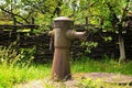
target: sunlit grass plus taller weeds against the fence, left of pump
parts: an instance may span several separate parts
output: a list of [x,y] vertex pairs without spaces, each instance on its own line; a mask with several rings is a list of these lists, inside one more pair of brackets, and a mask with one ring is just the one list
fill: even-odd
[[[10,45],[0,48],[0,88],[12,88],[14,84],[31,79],[44,78],[50,74],[51,65],[34,65],[33,57],[26,58],[23,52],[18,52]],[[29,57],[29,56],[28,56]]]

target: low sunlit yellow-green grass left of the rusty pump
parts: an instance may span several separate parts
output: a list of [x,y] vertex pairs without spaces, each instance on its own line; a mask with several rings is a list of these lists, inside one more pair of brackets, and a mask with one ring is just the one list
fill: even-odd
[[14,84],[25,82],[32,79],[41,79],[50,76],[50,65],[31,65],[10,67],[0,65],[0,88],[10,88]]

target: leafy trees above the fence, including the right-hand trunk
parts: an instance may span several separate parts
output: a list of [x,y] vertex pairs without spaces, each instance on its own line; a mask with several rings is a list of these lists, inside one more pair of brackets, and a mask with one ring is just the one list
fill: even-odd
[[[75,24],[92,24],[92,30],[112,31],[119,35],[120,62],[125,59],[123,33],[125,21],[132,12],[131,0],[1,0],[1,18],[7,16],[13,24],[35,23],[40,33],[50,30],[54,18],[69,16]],[[87,29],[88,30],[88,29]]]

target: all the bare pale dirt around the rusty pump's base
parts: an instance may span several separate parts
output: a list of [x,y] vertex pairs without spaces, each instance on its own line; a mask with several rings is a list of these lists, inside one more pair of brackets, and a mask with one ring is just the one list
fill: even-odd
[[[80,88],[78,82],[81,79],[90,78],[91,80],[101,79],[103,82],[108,84],[132,84],[132,76],[120,75],[120,74],[109,74],[109,73],[84,73],[74,74],[73,79],[67,81],[52,81],[48,78],[28,81],[25,84],[20,84],[13,88]],[[85,87],[81,87],[85,88]],[[122,88],[122,87],[121,87]],[[131,86],[127,88],[132,88]]]

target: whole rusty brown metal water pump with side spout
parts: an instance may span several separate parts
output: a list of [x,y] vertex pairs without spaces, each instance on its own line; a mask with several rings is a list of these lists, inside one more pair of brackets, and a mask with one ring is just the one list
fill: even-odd
[[66,16],[56,18],[53,22],[54,30],[50,35],[54,38],[54,57],[52,66],[52,79],[70,79],[70,41],[85,40],[85,32],[72,30],[74,21]]

